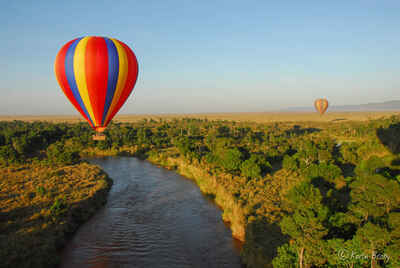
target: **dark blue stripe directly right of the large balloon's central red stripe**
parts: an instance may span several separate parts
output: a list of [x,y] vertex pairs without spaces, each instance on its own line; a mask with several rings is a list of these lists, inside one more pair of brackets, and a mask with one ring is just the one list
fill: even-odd
[[112,100],[114,98],[115,88],[117,87],[118,81],[118,73],[119,73],[119,59],[118,59],[118,51],[114,45],[114,42],[104,37],[104,40],[107,44],[108,50],[108,80],[107,80],[107,94],[106,94],[106,102],[104,104],[103,110],[103,119],[101,120],[101,124],[104,124],[106,120],[106,116],[108,110],[110,109]]

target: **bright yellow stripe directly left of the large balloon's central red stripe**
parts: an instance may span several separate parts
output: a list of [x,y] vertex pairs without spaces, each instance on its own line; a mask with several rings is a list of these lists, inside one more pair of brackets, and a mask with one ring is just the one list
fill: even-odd
[[93,113],[92,103],[90,102],[89,92],[87,89],[86,83],[86,65],[85,65],[85,54],[86,54],[86,45],[89,41],[90,37],[84,37],[79,41],[78,45],[75,48],[74,54],[74,75],[76,85],[79,90],[79,94],[81,95],[83,104],[86,107],[86,110],[89,113],[90,119],[92,119],[94,125],[99,126],[99,122],[96,121],[96,118]]

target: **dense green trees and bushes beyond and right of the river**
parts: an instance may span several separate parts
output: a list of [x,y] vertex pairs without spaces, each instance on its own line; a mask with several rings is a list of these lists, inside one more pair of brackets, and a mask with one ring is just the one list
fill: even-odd
[[214,195],[248,267],[399,267],[400,118],[266,123],[201,119],[111,125],[0,123],[0,162],[133,154]]

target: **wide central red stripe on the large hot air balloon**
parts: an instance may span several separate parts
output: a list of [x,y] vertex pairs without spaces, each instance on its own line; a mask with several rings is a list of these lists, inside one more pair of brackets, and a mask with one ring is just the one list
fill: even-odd
[[106,41],[102,37],[91,37],[88,40],[85,69],[90,103],[96,125],[100,126],[106,102],[108,78],[108,50]]

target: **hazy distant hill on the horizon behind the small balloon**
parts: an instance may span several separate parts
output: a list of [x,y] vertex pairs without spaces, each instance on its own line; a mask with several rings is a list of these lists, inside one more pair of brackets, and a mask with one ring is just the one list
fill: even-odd
[[[291,107],[285,109],[286,111],[314,111],[314,106],[309,107]],[[400,110],[400,100],[385,101],[385,102],[373,102],[367,104],[358,105],[333,105],[330,106],[329,111],[389,111],[389,110]]]

